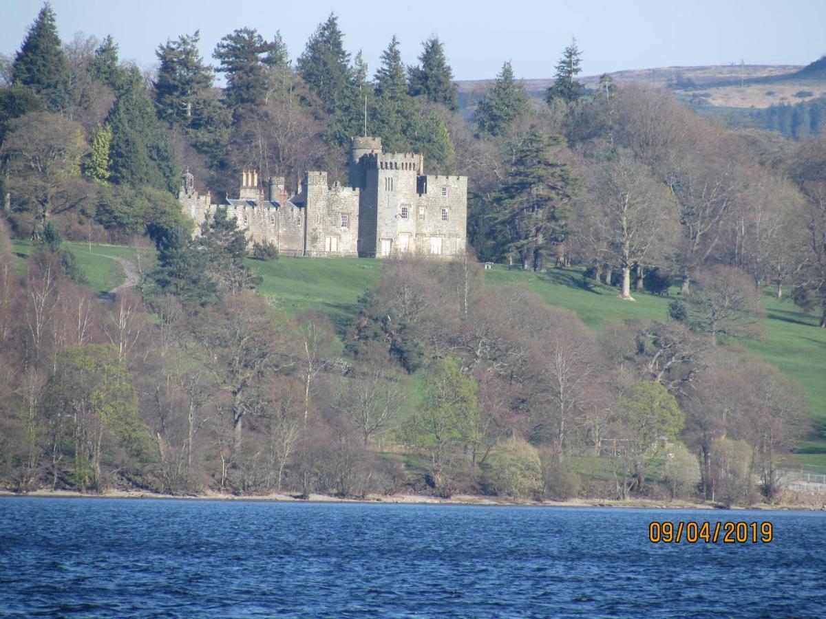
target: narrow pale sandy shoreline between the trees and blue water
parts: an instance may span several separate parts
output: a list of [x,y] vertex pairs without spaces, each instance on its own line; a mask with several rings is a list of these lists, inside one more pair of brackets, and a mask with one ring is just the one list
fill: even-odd
[[770,505],[758,503],[750,506],[732,506],[724,508],[712,503],[691,503],[688,501],[663,501],[657,499],[567,499],[565,501],[509,501],[487,496],[471,494],[457,494],[450,499],[421,496],[418,494],[368,495],[364,499],[342,499],[327,494],[311,494],[307,499],[297,498],[291,494],[272,493],[262,495],[237,496],[235,494],[204,493],[204,494],[159,494],[142,492],[139,490],[107,490],[102,494],[88,494],[72,490],[32,490],[26,493],[16,493],[0,489],[0,498],[33,497],[37,499],[150,499],[150,500],[180,500],[180,501],[235,501],[239,503],[353,503],[373,505],[467,505],[482,507],[525,507],[525,508],[636,508],[636,509],[697,509],[697,510],[756,510],[756,511],[807,511],[819,512],[826,510],[824,505],[806,506],[798,504]]

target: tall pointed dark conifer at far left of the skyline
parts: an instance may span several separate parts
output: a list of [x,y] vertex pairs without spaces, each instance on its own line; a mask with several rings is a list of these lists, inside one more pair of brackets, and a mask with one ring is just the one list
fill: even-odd
[[43,5],[12,65],[12,83],[31,89],[50,111],[69,106],[69,61],[61,48],[55,12]]

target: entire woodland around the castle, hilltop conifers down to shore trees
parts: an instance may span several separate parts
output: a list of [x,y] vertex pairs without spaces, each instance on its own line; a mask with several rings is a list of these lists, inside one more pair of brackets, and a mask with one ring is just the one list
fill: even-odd
[[[805,431],[799,391],[726,343],[759,337],[763,286],[826,324],[826,139],[793,144],[709,125],[664,91],[593,97],[576,42],[545,102],[503,64],[471,120],[454,113],[438,39],[415,67],[395,37],[368,81],[335,16],[293,63],[281,38],[159,45],[159,70],[115,42],[56,35],[46,5],[3,65],[0,478],[16,489],[506,496],[634,494],[750,500]],[[215,71],[227,87],[213,86]],[[174,196],[188,166],[235,191],[254,166],[344,174],[351,135],[423,151],[470,177],[477,256],[581,269],[681,295],[665,323],[595,338],[521,290],[482,286],[475,260],[388,261],[346,333],[254,293],[247,241],[218,210],[192,237]],[[5,223],[4,223],[5,225]],[[140,294],[93,300],[61,237],[145,234]],[[5,241],[7,235],[0,235]],[[665,319],[666,317],[663,317]],[[342,347],[343,345],[343,347]],[[699,485],[698,485],[699,484]]]

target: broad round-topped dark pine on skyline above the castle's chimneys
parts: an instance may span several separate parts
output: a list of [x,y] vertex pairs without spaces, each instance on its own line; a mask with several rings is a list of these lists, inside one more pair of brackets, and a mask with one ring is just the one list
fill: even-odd
[[221,63],[216,69],[225,73],[227,105],[259,105],[267,95],[267,69],[275,44],[263,40],[258,31],[241,28],[226,35],[216,45],[212,57]]

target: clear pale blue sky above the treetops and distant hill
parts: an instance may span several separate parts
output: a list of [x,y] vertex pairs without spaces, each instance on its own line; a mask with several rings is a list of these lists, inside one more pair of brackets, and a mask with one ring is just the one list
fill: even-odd
[[[41,0],[0,0],[0,54],[20,49]],[[335,12],[345,48],[363,51],[373,74],[392,35],[415,64],[421,43],[438,35],[456,79],[496,76],[506,60],[518,78],[551,78],[572,37],[582,74],[706,64],[808,64],[826,54],[826,0],[373,0],[371,2],[170,2],[51,0],[59,35],[111,34],[122,60],[156,64],[154,50],[201,31],[204,59],[236,28],[272,40],[281,31],[297,58],[316,26]]]

